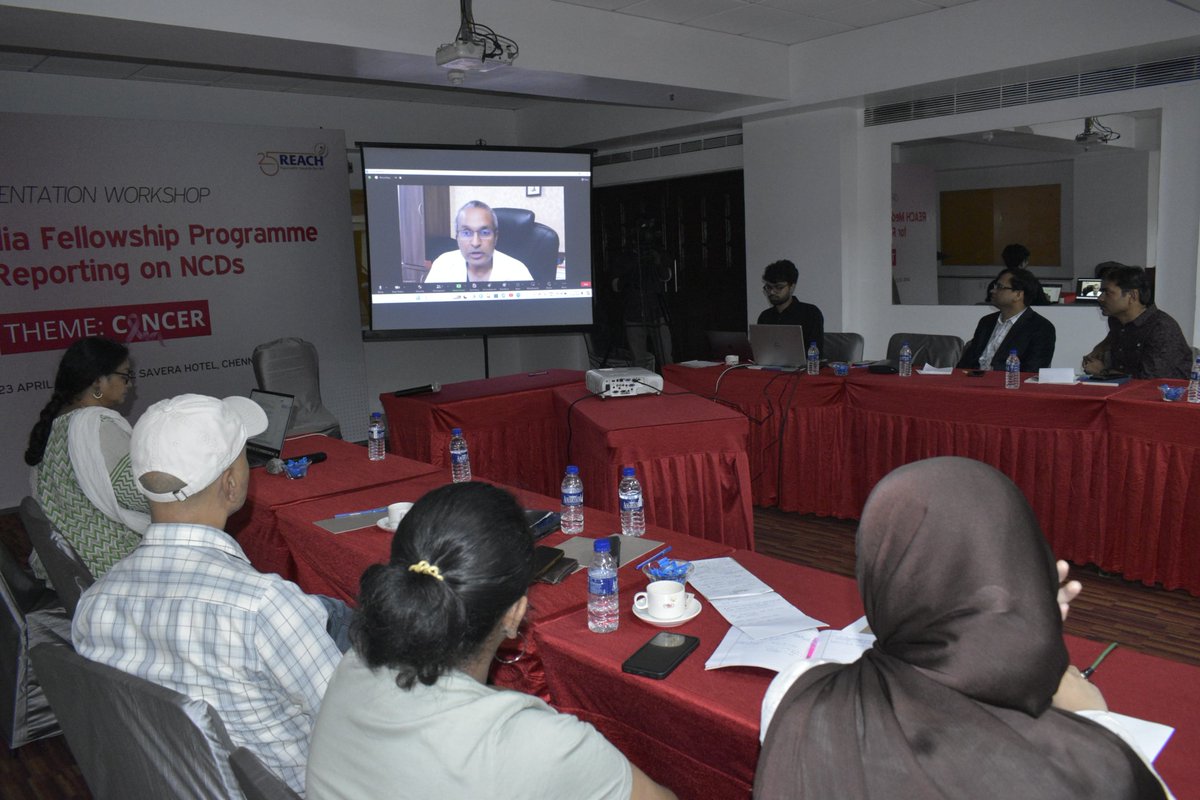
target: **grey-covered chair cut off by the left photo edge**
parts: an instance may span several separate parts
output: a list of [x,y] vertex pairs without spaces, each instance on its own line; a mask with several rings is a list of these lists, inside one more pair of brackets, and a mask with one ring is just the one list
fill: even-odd
[[0,545],[0,735],[16,750],[55,736],[59,722],[29,661],[42,642],[71,640],[71,619],[54,590]]

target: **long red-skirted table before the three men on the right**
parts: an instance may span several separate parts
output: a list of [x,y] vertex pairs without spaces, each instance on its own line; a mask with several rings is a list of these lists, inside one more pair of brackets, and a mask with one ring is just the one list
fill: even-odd
[[1200,595],[1200,405],[1158,385],[1003,389],[971,378],[846,378],[668,365],[667,379],[739,409],[758,505],[858,518],[875,483],[902,464],[965,456],[1025,493],[1060,558]]

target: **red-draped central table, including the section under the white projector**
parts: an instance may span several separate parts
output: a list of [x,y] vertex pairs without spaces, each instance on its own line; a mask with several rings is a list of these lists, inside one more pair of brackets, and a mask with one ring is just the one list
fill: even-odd
[[462,428],[474,475],[554,497],[576,464],[587,504],[612,512],[620,468],[631,465],[647,523],[754,548],[746,419],[690,391],[604,399],[582,372],[551,369],[379,401],[401,456],[449,473],[451,431]]

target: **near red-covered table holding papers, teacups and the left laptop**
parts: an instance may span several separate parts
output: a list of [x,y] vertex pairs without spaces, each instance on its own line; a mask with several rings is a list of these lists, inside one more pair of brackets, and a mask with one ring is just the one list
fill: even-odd
[[[301,446],[289,443],[286,455],[314,449],[311,441]],[[449,469],[430,470],[428,464],[396,456],[370,463],[364,449],[334,440],[320,449],[329,452],[330,461],[314,465],[305,480],[287,481],[256,470],[251,499],[257,511],[240,518],[241,524],[230,533],[247,554],[266,553],[283,565],[276,571],[306,591],[353,602],[362,570],[388,559],[392,535],[374,527],[377,515],[364,515],[362,528],[343,534],[331,534],[316,523],[338,513],[415,500],[446,482]],[[347,485],[350,473],[367,480],[380,477],[383,473],[374,471],[380,464],[398,477],[362,488]],[[547,495],[508,488],[527,507],[557,504]],[[311,495],[304,497],[306,492]],[[612,512],[587,510],[586,536],[607,535],[616,528]],[[850,578],[660,527],[652,527],[647,535],[672,545],[673,555],[689,560],[730,555],[797,607],[834,627],[862,615]],[[563,539],[556,533],[544,541],[553,545]],[[264,542],[270,547],[263,547]],[[260,566],[257,560],[256,566]],[[604,636],[587,630],[583,573],[558,585],[530,587],[527,655],[516,664],[498,667],[492,680],[540,694],[560,710],[592,722],[680,798],[744,800],[750,795],[758,757],[758,708],[773,674],[752,668],[704,670],[704,661],[730,626],[703,600],[702,613],[674,628],[701,639],[700,648],[674,673],[665,680],[623,673],[620,663],[658,631],[630,612],[632,594],[644,584],[646,578],[631,566],[622,569],[622,624]],[[1067,644],[1076,664],[1088,663],[1103,648],[1103,643],[1076,637],[1067,637]],[[1094,681],[1112,710],[1176,728],[1156,766],[1177,796],[1200,796],[1200,759],[1195,758],[1200,752],[1200,669],[1118,648]]]

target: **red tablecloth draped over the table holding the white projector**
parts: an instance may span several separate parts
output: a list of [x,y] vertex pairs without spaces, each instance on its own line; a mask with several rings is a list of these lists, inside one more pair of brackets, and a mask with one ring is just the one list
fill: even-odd
[[587,505],[617,511],[620,468],[632,465],[647,523],[754,547],[745,416],[670,384],[637,397],[602,399],[583,386],[553,395]]

